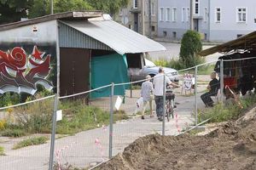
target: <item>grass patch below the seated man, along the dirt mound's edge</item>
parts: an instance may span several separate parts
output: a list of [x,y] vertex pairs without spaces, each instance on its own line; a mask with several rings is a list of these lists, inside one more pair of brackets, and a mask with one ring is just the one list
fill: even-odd
[[239,105],[228,103],[226,105],[214,105],[214,107],[198,111],[198,121],[203,122],[208,118],[212,118],[210,122],[226,122],[230,120],[236,120],[241,116],[242,113],[247,111],[250,107],[255,105],[256,95],[246,96],[246,98],[241,99],[242,108]]

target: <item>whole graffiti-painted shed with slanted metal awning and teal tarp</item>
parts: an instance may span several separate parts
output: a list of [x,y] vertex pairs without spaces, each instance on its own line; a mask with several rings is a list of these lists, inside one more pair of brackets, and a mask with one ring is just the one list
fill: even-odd
[[[100,11],[51,14],[3,25],[0,94],[34,94],[40,84],[64,96],[127,82],[130,64],[142,67],[143,53],[161,50],[166,48]],[[124,94],[124,88],[115,94]]]

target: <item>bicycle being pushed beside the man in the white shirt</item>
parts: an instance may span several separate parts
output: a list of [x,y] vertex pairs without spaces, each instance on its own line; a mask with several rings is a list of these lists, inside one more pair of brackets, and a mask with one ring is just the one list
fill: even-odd
[[172,89],[167,88],[166,89],[166,117],[168,122],[170,122],[170,116],[174,118],[174,115],[173,115],[174,98],[175,98],[175,94],[172,93]]

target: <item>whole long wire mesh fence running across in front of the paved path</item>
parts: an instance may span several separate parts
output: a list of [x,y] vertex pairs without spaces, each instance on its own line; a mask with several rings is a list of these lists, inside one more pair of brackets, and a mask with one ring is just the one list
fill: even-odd
[[[172,105],[173,117],[170,116],[169,121],[166,116],[164,120],[158,120],[155,111],[156,97],[153,94],[150,96],[152,112],[149,102],[138,107],[141,84],[145,81],[154,82],[152,78],[109,84],[87,92],[59,97],[56,108],[58,113],[54,115],[57,119],[55,139],[52,143],[50,133],[55,112],[55,95],[47,98],[37,96],[26,104],[0,108],[0,146],[4,147],[6,153],[6,156],[0,156],[0,168],[47,169],[50,144],[55,144],[52,145],[55,169],[91,167],[115,156],[135,139],[145,135],[183,133],[191,125],[206,120],[201,116],[206,107],[229,99],[236,102],[239,99],[237,96],[251,93],[255,88],[255,66],[254,58],[229,59],[177,71],[179,81],[176,83],[180,87],[172,88],[175,99]],[[212,75],[213,71],[216,75]],[[166,77],[169,78],[167,74]],[[166,85],[162,85],[163,96],[166,96]],[[124,93],[118,93],[119,89],[125,89]],[[167,97],[163,99],[168,100]],[[166,103],[163,108],[166,113]],[[9,139],[8,136],[11,135],[23,137]],[[39,137],[42,138],[40,142],[45,144],[13,150],[24,139],[28,139],[24,144],[26,146],[32,139]]]

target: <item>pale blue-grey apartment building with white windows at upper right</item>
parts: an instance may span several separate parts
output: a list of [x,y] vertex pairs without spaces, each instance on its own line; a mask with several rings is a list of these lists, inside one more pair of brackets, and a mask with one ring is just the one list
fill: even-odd
[[[193,28],[202,39],[226,42],[256,28],[254,0],[193,0]],[[190,0],[159,0],[158,36],[181,39],[190,28]]]

